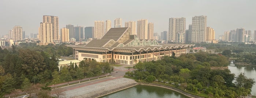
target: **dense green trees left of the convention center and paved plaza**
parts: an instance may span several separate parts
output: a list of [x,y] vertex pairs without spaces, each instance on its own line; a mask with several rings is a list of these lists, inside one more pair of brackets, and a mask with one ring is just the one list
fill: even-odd
[[[80,62],[79,67],[71,63],[70,67],[63,66],[59,71],[57,56],[72,54],[72,49],[65,45],[36,46],[25,43],[10,49],[0,48],[0,98],[17,92],[15,89],[47,98],[45,93],[51,90],[48,84],[80,80],[112,70],[108,63],[85,60]],[[38,91],[38,88],[41,90]]]

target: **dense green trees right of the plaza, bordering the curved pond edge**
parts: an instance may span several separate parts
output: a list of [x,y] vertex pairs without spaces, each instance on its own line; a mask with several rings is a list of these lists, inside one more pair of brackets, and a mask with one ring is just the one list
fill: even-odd
[[[231,98],[251,93],[255,80],[244,73],[237,77],[229,69],[211,69],[211,66],[227,66],[228,59],[218,54],[198,52],[182,54],[179,57],[165,56],[162,60],[138,63],[136,70],[126,72],[139,80],[159,81],[174,84],[193,93],[206,93],[210,97],[228,96]],[[233,83],[233,80],[236,82]]]

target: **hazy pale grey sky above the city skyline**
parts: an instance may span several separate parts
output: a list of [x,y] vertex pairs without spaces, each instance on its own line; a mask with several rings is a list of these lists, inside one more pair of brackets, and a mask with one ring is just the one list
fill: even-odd
[[168,31],[169,18],[186,18],[186,29],[193,16],[207,16],[207,27],[215,39],[224,31],[244,27],[256,30],[256,0],[0,0],[0,35],[22,26],[26,35],[38,33],[43,15],[59,17],[59,29],[66,24],[94,26],[95,20],[122,18],[148,19],[154,32]]

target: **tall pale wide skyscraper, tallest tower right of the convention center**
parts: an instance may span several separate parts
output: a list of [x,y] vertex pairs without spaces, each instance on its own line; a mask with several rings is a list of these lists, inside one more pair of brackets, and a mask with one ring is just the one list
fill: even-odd
[[191,42],[204,42],[207,16],[194,16],[192,18]]

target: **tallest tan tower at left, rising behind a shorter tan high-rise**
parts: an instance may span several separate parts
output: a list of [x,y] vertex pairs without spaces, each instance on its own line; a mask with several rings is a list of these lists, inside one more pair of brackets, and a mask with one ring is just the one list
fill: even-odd
[[43,16],[42,23],[52,23],[52,38],[59,40],[59,18],[57,16]]

